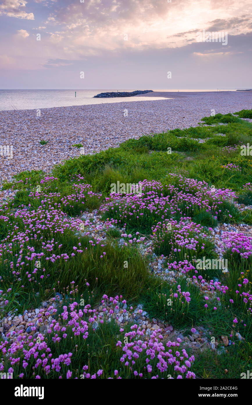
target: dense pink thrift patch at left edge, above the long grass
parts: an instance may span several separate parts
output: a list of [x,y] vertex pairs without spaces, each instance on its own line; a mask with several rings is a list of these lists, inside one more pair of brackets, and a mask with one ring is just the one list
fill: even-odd
[[[1,276],[8,273],[14,283],[39,283],[50,277],[45,264],[42,265],[44,260],[52,263],[57,260],[64,262],[69,257],[82,254],[88,249],[88,245],[105,246],[101,243],[101,238],[97,237],[90,238],[88,245],[78,242],[77,246],[73,246],[71,255],[62,251],[59,238],[66,231],[79,235],[83,222],[78,218],[69,218],[60,208],[50,205],[41,205],[33,210],[20,207],[15,213],[5,209],[5,215],[0,215],[1,219],[9,224],[8,234],[0,243],[0,258],[5,264],[5,272],[3,271]],[[90,232],[82,233],[86,236],[89,234]]]

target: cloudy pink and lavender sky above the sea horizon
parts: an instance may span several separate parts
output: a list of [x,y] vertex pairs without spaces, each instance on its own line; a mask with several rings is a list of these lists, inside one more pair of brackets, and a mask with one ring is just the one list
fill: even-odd
[[250,0],[0,0],[1,89],[242,89],[251,67]]

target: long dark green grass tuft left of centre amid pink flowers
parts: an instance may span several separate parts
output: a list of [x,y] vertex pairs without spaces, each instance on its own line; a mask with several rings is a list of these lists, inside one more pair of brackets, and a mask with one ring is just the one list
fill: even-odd
[[[93,288],[97,286],[100,292],[106,294],[124,294],[124,297],[137,296],[142,289],[145,289],[149,280],[147,264],[138,250],[134,247],[122,247],[119,245],[112,245],[107,243],[104,247],[95,245],[94,247],[88,242],[89,238],[79,238],[74,236],[72,232],[64,232],[62,237],[55,238],[58,245],[61,245],[61,249],[55,247],[52,254],[60,254],[61,252],[67,253],[69,259],[58,259],[55,262],[50,260],[46,261],[45,256],[40,258],[41,269],[46,267],[49,277],[40,279],[40,271],[33,275],[33,282],[30,283],[25,276],[25,272],[32,273],[35,260],[30,261],[25,258],[25,252],[22,257],[23,262],[27,264],[24,271],[20,271],[19,277],[22,278],[22,282],[15,280],[15,290],[19,290],[21,284],[23,285],[23,294],[28,296],[29,292],[40,292],[40,298],[42,301],[46,299],[44,291],[53,288],[63,290],[65,286],[70,285],[71,281],[78,283],[81,291],[84,288],[86,281]],[[83,254],[76,254],[71,257],[73,252],[72,246],[78,246],[81,243],[81,249]],[[34,245],[34,244],[33,244]],[[35,244],[36,251],[41,252],[42,248],[39,243]],[[86,249],[87,248],[87,249]],[[13,252],[16,252],[14,247]],[[103,253],[105,252],[105,254]],[[5,260],[6,259],[6,260]],[[12,271],[8,266],[8,262],[11,261],[8,254],[2,256],[0,262],[1,272],[1,285],[3,288],[8,288],[13,283]],[[14,258],[13,263],[16,265],[17,258]],[[127,268],[124,265],[127,263]],[[96,281],[96,278],[98,279]],[[27,299],[27,298],[26,298]],[[34,294],[29,296],[29,302],[26,304],[31,305],[34,303]],[[20,304],[21,305],[21,304]]]

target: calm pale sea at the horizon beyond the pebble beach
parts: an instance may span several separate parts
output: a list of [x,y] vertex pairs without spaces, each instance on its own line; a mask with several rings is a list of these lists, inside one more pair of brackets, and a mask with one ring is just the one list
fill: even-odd
[[[107,102],[122,102],[122,101],[144,101],[144,100],[160,100],[158,97],[118,97],[118,98],[93,98],[96,94],[102,92],[132,92],[128,89],[101,89],[101,90],[0,90],[0,111],[4,110],[32,110],[50,107],[67,107],[71,105],[83,104],[101,104]],[[138,89],[141,90],[141,89]],[[154,90],[154,89],[153,89]],[[178,90],[156,90],[162,92],[174,92]],[[215,90],[192,90],[181,89],[180,92],[195,92],[195,91],[216,91]]]

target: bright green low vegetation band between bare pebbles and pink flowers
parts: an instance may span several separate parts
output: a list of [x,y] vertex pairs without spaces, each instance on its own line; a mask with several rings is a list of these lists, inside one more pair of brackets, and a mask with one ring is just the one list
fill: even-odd
[[[104,195],[109,195],[111,183],[118,180],[123,183],[137,183],[144,179],[165,182],[167,174],[174,172],[187,173],[187,177],[205,180],[216,188],[232,188],[240,192],[242,186],[252,177],[251,156],[241,156],[239,153],[239,145],[251,143],[252,124],[231,115],[236,120],[234,121],[228,115],[231,122],[218,125],[225,121],[225,115],[218,117],[219,114],[208,117],[210,122],[214,120],[214,126],[145,135],[139,139],[129,139],[118,148],[70,158],[55,166],[52,174],[59,179],[60,187],[73,175],[81,175],[84,181],[92,185],[94,192],[102,192]],[[225,136],[220,136],[220,133]],[[199,144],[194,138],[210,139]],[[236,151],[223,150],[223,147],[233,145],[238,145]],[[169,147],[172,150],[170,154],[167,153]],[[240,166],[242,171],[230,171],[221,167],[228,163]],[[42,173],[23,172],[16,180],[25,182],[28,177],[31,177],[29,183],[35,186]],[[16,183],[15,187],[22,188],[23,185]],[[4,184],[4,188],[10,188],[10,183]]]

